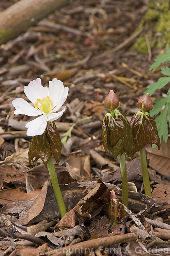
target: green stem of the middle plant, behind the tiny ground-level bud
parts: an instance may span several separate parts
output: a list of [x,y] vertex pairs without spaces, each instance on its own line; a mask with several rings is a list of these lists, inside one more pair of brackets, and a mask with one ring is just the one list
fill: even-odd
[[[122,203],[129,209],[128,202],[128,177],[126,172],[126,164],[125,164],[125,155],[119,155],[120,159],[120,169],[121,169],[121,177],[122,177]],[[123,216],[126,216],[127,213],[123,211]]]

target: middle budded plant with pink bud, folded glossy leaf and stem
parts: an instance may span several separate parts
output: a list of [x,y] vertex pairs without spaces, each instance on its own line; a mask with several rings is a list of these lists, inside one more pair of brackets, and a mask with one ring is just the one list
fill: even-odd
[[[132,130],[128,119],[118,110],[120,103],[113,90],[104,100],[104,105],[111,113],[103,118],[102,141],[105,152],[112,152],[114,159],[119,155],[122,178],[122,202],[128,208],[128,178],[125,165],[125,154],[129,156],[132,150]],[[123,212],[125,216],[126,213]]]

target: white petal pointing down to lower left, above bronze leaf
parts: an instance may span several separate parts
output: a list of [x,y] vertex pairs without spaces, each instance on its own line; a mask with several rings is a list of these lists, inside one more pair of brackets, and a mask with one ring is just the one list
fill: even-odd
[[47,126],[47,115],[43,114],[26,124],[26,127],[28,128],[27,135],[28,136],[41,135],[45,131],[46,126]]

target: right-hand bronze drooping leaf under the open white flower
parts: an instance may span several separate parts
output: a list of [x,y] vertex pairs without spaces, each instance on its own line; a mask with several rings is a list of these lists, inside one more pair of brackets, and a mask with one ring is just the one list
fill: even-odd
[[62,142],[54,122],[47,122],[46,132],[49,139],[51,151],[58,165],[61,158]]

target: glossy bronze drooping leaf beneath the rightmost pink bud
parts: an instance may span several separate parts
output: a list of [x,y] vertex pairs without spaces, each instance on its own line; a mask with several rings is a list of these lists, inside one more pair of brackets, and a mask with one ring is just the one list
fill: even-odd
[[131,128],[133,135],[133,146],[131,157],[140,151],[145,145],[156,144],[160,148],[160,139],[156,128],[155,119],[149,113],[136,112],[131,119]]

